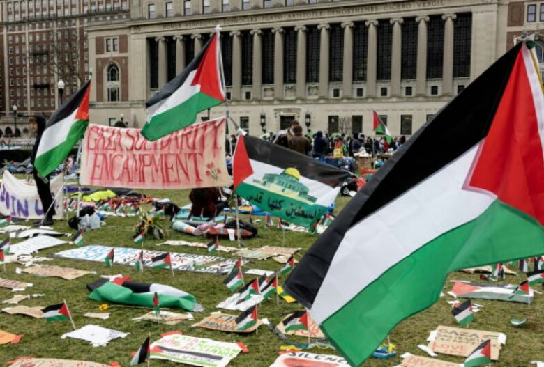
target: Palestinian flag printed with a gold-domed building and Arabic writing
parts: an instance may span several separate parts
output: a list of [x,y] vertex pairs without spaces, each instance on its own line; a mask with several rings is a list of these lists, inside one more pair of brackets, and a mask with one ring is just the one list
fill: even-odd
[[254,136],[234,151],[234,188],[266,212],[305,227],[322,217],[349,172]]

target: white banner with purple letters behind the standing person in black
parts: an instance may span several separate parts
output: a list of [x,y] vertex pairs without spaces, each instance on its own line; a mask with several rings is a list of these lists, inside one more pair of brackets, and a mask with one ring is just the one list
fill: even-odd
[[[60,191],[54,203],[56,211],[54,219],[62,219],[63,217],[64,196],[61,192],[63,180],[62,174],[51,180],[51,195],[54,197]],[[38,196],[36,185],[29,184],[26,180],[18,180],[9,171],[4,171],[0,187],[0,213],[14,218],[42,219],[43,212],[44,208],[42,208],[42,201]]]

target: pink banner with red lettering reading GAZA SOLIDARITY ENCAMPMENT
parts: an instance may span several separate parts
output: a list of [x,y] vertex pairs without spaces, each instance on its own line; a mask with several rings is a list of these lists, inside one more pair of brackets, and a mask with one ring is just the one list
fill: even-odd
[[189,189],[230,185],[225,118],[190,125],[157,141],[139,129],[89,125],[80,181],[133,189]]

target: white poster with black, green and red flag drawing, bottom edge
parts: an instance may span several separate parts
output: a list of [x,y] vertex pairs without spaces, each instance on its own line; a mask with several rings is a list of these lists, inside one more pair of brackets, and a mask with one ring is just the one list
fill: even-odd
[[174,334],[151,344],[151,359],[166,359],[192,366],[225,367],[241,350],[236,343]]

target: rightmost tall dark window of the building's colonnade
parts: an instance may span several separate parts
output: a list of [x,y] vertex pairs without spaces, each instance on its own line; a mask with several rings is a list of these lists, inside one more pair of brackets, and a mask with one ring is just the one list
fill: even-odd
[[453,77],[470,77],[472,14],[458,14],[453,24]]

